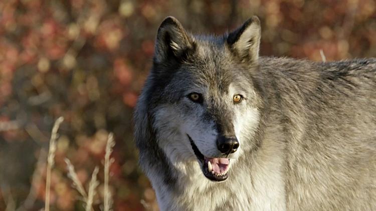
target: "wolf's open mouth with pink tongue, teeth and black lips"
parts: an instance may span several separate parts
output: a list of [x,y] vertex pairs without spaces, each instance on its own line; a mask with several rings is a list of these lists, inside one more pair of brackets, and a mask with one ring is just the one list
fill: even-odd
[[226,180],[229,177],[228,171],[230,169],[230,159],[223,157],[206,157],[201,153],[191,136],[188,135],[188,138],[190,139],[193,151],[202,165],[201,169],[203,170],[204,175],[213,181]]

